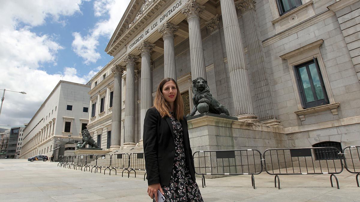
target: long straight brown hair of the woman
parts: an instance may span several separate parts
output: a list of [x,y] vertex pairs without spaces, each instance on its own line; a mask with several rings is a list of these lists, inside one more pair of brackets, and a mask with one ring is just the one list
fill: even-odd
[[181,98],[179,87],[177,86],[176,81],[172,78],[162,79],[161,82],[159,83],[154,100],[154,107],[159,111],[162,118],[166,115],[170,117],[170,113],[169,113],[170,105],[166,102],[164,96],[162,95],[162,87],[168,81],[173,81],[175,83],[177,90],[176,98],[174,101],[173,114],[177,120],[182,120],[184,116],[184,102],[183,99]]

